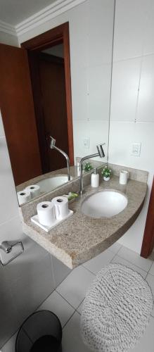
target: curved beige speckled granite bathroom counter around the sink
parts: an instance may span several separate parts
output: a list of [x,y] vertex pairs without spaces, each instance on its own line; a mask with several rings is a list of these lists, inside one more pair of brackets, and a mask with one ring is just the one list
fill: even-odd
[[[97,189],[92,189],[90,185],[84,189],[85,194],[69,204],[74,215],[48,233],[31,222],[30,212],[23,218],[25,234],[71,269],[94,258],[122,237],[134,223],[143,207],[147,184],[146,182],[129,180],[126,186],[122,186],[119,184],[119,177],[113,176],[110,181],[103,181]],[[84,199],[102,189],[113,189],[126,194],[127,207],[112,218],[95,219],[84,215],[81,212]],[[57,195],[62,194],[64,194],[63,190],[62,193],[59,191]],[[34,215],[36,203],[34,206],[31,216]]]

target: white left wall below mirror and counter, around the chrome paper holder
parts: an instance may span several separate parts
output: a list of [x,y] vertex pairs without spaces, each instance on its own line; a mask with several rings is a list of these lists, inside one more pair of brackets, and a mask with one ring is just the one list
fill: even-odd
[[[70,269],[22,232],[18,201],[0,115],[0,243],[22,241],[24,253],[0,265],[0,348],[23,320],[51,294]],[[0,250],[0,258],[3,258]],[[7,259],[11,254],[7,254]]]

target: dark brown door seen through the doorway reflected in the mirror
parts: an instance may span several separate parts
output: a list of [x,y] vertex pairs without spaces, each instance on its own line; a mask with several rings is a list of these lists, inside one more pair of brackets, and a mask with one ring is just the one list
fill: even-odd
[[58,148],[67,154],[69,153],[63,58],[40,54],[39,75],[46,134],[44,137],[46,138],[49,163],[47,171],[58,170],[66,167],[66,161],[60,153],[50,149],[49,136],[56,139]]

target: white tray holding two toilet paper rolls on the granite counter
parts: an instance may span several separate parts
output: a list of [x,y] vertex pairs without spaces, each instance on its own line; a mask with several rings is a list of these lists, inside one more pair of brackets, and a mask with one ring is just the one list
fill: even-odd
[[73,211],[68,208],[68,198],[58,196],[52,201],[38,203],[37,215],[32,216],[31,221],[44,231],[49,232],[72,214]]

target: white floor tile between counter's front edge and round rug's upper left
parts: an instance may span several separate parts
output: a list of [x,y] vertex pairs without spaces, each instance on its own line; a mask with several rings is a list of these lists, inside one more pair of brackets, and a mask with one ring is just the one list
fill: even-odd
[[92,258],[91,260],[88,260],[86,263],[83,264],[83,266],[94,274],[97,274],[99,270],[101,270],[105,265],[110,263],[114,256],[115,253],[107,249],[103,253],[98,254],[98,256]]

